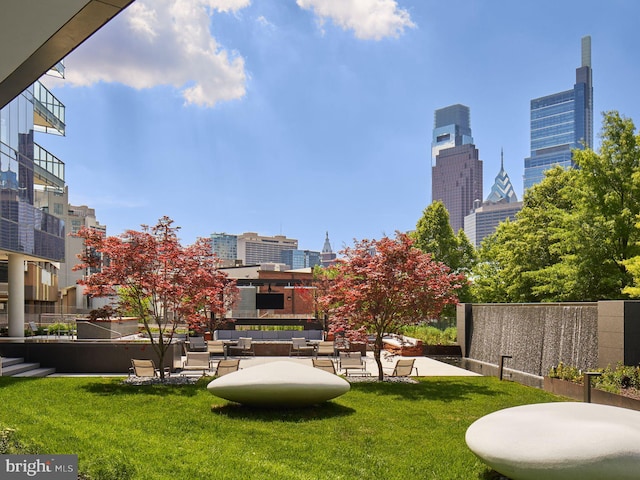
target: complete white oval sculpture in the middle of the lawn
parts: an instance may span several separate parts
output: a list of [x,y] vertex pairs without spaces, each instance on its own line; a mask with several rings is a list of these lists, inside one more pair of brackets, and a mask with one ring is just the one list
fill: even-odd
[[216,397],[254,406],[305,406],[349,391],[343,378],[318,368],[278,361],[216,378],[207,389]]

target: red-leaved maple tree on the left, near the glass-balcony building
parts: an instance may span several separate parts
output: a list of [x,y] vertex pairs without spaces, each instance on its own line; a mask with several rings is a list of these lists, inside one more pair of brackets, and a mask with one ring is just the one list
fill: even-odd
[[[78,283],[88,295],[116,298],[117,311],[142,320],[159,365],[178,325],[187,321],[202,328],[226,312],[236,292],[235,282],[218,270],[208,240],[183,247],[177,230],[165,216],[154,227],[143,225],[142,231],[120,236],[105,237],[92,228],[76,234],[84,240],[85,253],[74,269],[94,272]],[[164,369],[160,374],[164,378]]]

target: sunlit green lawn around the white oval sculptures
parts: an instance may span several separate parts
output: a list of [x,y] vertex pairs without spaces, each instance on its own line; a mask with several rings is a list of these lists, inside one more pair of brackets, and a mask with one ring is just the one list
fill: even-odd
[[491,377],[356,383],[306,409],[247,408],[196,385],[0,378],[0,426],[33,453],[78,454],[92,479],[489,479],[477,418],[561,400]]

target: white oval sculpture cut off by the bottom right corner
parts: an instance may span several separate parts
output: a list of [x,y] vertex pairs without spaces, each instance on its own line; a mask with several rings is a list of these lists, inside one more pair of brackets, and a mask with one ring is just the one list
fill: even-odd
[[507,408],[469,426],[466,442],[513,480],[640,476],[640,412],[593,403]]

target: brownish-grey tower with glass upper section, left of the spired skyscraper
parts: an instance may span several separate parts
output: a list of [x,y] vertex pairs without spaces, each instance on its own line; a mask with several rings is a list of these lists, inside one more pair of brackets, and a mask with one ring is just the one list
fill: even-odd
[[454,232],[464,228],[464,217],[482,199],[482,160],[473,144],[469,107],[452,105],[435,112],[431,144],[431,200],[440,200],[449,212]]

